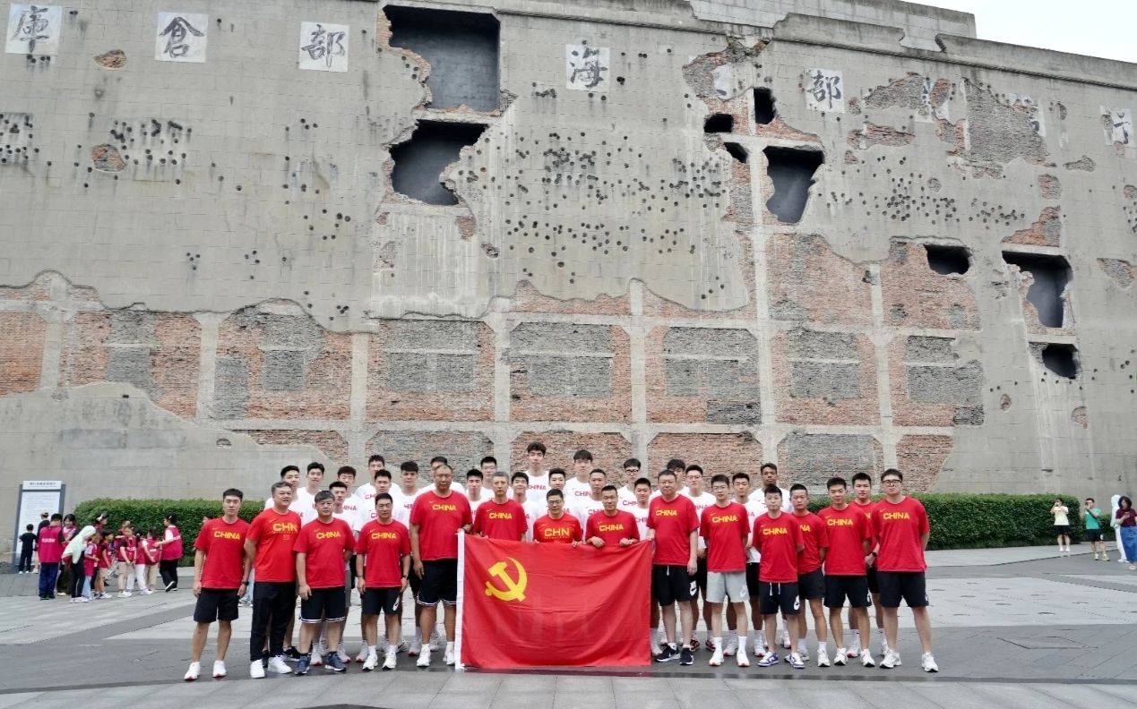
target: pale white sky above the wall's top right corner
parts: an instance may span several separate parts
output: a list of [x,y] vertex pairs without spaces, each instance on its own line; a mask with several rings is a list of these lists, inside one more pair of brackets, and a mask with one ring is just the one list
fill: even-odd
[[972,12],[979,37],[1137,62],[1137,2],[918,0]]

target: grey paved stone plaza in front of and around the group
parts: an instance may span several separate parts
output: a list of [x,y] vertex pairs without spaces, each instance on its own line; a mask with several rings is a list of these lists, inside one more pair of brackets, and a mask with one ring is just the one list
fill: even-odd
[[[1082,549],[1086,549],[1082,547]],[[1137,573],[1049,548],[930,552],[929,594],[940,673],[920,672],[911,616],[902,612],[903,667],[794,673],[729,662],[606,672],[418,670],[252,681],[249,612],[234,626],[230,677],[181,681],[189,661],[188,590],[73,606],[7,595],[0,603],[0,709],[8,707],[1003,707],[1131,704],[1137,686]],[[1115,556],[1115,552],[1114,552]],[[0,593],[30,577],[6,576]],[[188,585],[188,584],[186,584]],[[598,617],[599,618],[599,617]],[[348,647],[358,648],[357,616]],[[877,642],[874,641],[874,648]],[[811,644],[812,650],[812,644]],[[555,651],[555,649],[550,649]],[[211,645],[202,670],[211,666]]]

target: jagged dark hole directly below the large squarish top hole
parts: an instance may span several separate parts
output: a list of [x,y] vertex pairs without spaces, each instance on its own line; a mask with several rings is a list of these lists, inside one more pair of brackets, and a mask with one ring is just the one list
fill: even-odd
[[457,205],[458,198],[442,185],[442,170],[457,161],[459,150],[478,142],[484,130],[471,123],[420,120],[410,140],[391,149],[395,191],[428,205]]

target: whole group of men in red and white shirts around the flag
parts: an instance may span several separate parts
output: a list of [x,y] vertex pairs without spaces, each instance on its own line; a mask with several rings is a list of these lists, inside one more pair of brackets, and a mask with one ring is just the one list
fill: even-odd
[[[393,669],[402,651],[417,656],[417,667],[430,666],[432,651],[455,665],[459,531],[536,543],[653,544],[648,641],[656,662],[694,664],[702,615],[711,666],[733,656],[748,667],[753,652],[760,667],[770,667],[785,649],[785,660],[802,669],[810,660],[808,607],[819,667],[860,661],[890,669],[901,665],[897,609],[904,601],[915,619],[921,667],[938,672],[924,585],[930,527],[923,506],[904,494],[898,470],[881,475],[877,502],[868,474],[829,479],[830,506],[813,514],[805,485],[779,486],[773,464],[763,465],[755,481],[745,472],[707,477],[698,465],[673,459],[653,485],[636,459],[611,479],[587,450],[576,451],[572,472],[546,470],[545,456],[542,443],[531,443],[526,469],[513,474],[483,458],[466,473],[465,486],[443,457],[431,460],[430,486],[421,486],[414,461],[399,466],[396,481],[379,454],[368,460],[370,481],[358,489],[349,466],[326,487],[323,465],[310,464],[302,477],[287,466],[251,523],[238,516],[241,491],[226,490],[222,516],[208,520],[194,542],[197,625],[184,678],[199,677],[214,622],[213,676],[226,675],[241,597],[251,597],[252,606],[250,676],[305,675],[321,665],[345,672],[351,658],[341,641],[354,590],[363,634],[355,659],[364,670]],[[408,589],[415,618],[409,642],[401,637]],[[435,625],[439,604],[445,635]],[[879,661],[870,649],[870,607]]]

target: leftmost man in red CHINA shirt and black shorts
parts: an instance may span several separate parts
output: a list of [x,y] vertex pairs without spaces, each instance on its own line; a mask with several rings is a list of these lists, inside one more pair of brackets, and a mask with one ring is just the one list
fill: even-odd
[[209,635],[209,624],[217,622],[217,659],[214,678],[225,676],[225,652],[236,620],[236,599],[249,585],[251,559],[244,556],[249,523],[236,516],[244,493],[230,487],[222,493],[222,516],[201,525],[193,542],[193,659],[184,679],[193,682],[201,674],[201,651]]

